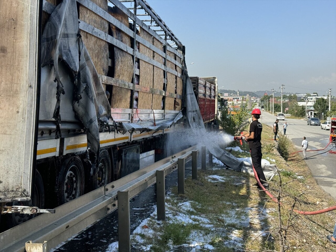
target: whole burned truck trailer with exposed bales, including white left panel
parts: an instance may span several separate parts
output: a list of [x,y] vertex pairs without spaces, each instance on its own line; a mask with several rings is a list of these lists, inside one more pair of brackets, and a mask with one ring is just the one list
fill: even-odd
[[2,206],[54,208],[167,156],[184,46],[146,1],[3,0],[1,13]]

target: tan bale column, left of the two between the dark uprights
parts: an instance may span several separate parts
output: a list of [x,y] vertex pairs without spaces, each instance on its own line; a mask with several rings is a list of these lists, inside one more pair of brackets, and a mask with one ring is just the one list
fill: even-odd
[[[140,28],[140,36],[153,43],[153,36]],[[139,52],[153,58],[153,51],[148,47],[140,44]],[[153,65],[140,59],[140,81],[139,85],[147,88],[153,88]],[[138,108],[139,109],[152,109],[153,94],[139,92]]]

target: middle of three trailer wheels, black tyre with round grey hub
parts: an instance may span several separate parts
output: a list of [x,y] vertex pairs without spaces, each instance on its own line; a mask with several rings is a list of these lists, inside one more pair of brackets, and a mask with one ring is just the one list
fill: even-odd
[[59,205],[76,199],[84,193],[84,168],[80,158],[73,156],[64,161],[57,185]]

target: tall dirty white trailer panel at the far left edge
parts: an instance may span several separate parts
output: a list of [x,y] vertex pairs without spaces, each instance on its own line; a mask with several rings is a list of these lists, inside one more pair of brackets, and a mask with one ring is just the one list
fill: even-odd
[[39,1],[0,1],[0,202],[31,197]]

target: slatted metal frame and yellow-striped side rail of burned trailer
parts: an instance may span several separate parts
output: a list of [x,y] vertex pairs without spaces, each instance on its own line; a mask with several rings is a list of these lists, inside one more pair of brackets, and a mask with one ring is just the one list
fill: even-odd
[[[185,60],[184,60],[184,46],[181,44],[181,42],[175,37],[175,35],[171,32],[171,30],[166,26],[166,24],[162,21],[160,16],[158,16],[155,11],[149,6],[149,4],[144,0],[107,0],[114,6],[118,7],[122,12],[127,14],[129,17],[129,22],[136,21],[136,26],[134,26],[134,31],[126,27],[124,24],[122,24],[119,20],[117,20],[115,17],[110,15],[108,12],[91,2],[90,0],[76,0],[79,4],[83,5],[84,7],[90,9],[95,14],[99,15],[103,19],[107,20],[109,23],[116,26],[118,29],[120,29],[122,32],[130,36],[134,39],[134,45],[133,47],[136,48],[136,42],[139,42],[140,44],[150,48],[155,53],[159,54],[161,57],[164,58],[164,64],[161,64],[157,62],[156,60],[136,51],[136,49],[133,49],[126,44],[122,43],[121,41],[117,40],[116,38],[110,36],[107,33],[104,33],[103,31],[83,22],[79,19],[79,28],[82,31],[85,31],[99,39],[102,39],[109,44],[112,44],[119,49],[129,53],[130,55],[134,56],[133,60],[133,80],[134,76],[137,74],[139,75],[139,69],[136,68],[134,61],[136,58],[141,59],[145,62],[148,62],[149,64],[156,66],[164,71],[164,83],[165,83],[165,90],[167,90],[167,73],[171,73],[175,75],[175,78],[181,78],[183,87],[185,86],[185,81],[183,79],[183,76],[176,71],[176,67],[180,68],[181,71],[185,69]],[[123,3],[133,3],[133,8],[127,8]],[[47,13],[51,13],[54,10],[55,6],[51,3],[47,2],[46,0],[43,0],[43,11]],[[137,10],[139,11],[142,9],[145,14],[143,13],[137,13]],[[150,17],[151,24],[155,23],[153,25],[146,25],[144,22],[147,22],[148,20],[141,20],[139,17],[141,16],[147,16]],[[152,35],[155,39],[159,40],[162,45],[164,46],[165,50],[162,51],[155,47],[153,44],[146,41],[144,38],[140,37],[136,34],[136,28],[141,27],[146,32],[148,32],[150,35]],[[151,27],[160,27],[160,30],[153,30]],[[164,32],[164,34],[159,34],[158,32]],[[173,41],[176,45],[175,48],[173,48],[167,41]],[[179,57],[182,61],[182,64],[176,60],[176,58],[170,57],[167,52],[173,52],[177,57]],[[175,69],[171,69],[167,66],[167,61],[172,62],[175,65]],[[110,66],[112,65],[112,62],[110,60]],[[175,99],[181,99],[182,101],[182,108],[183,108],[183,97],[184,97],[184,88],[182,95],[176,94],[176,93],[169,93],[165,90],[159,90],[154,88],[146,88],[139,85],[135,85],[134,83],[126,82],[120,79],[112,78],[109,76],[100,75],[100,81],[103,84],[107,85],[113,85],[118,86],[122,88],[127,88],[130,90],[133,90],[132,95],[132,101],[131,104],[133,104],[134,99],[134,91],[139,92],[145,92],[145,93],[152,93],[152,94],[159,94],[162,95],[165,99],[165,97],[172,97]],[[175,84],[176,85],[176,84]],[[166,120],[170,118],[174,118],[180,111],[171,111],[166,110],[165,108],[165,102],[164,102],[164,108],[163,110],[146,110],[146,109],[111,109],[111,115],[114,119],[114,122],[137,122],[139,120],[144,122],[153,122],[154,120],[160,121],[160,120]],[[177,128],[176,128],[177,126]],[[101,147],[107,147],[114,144],[120,144],[123,142],[130,142],[133,140],[139,140],[141,138],[146,138],[149,136],[155,136],[160,134],[165,134],[168,132],[172,132],[174,130],[178,130],[179,125],[176,125],[175,127],[172,127],[171,129],[165,129],[160,131],[151,131],[151,132],[137,132],[135,131],[133,134],[130,134],[129,132],[122,134],[120,132],[116,132],[115,134],[109,134],[108,132],[101,132],[100,133],[100,144]],[[111,126],[113,128],[113,126]],[[60,155],[66,155],[71,153],[77,153],[82,152],[86,150],[86,137],[85,132],[78,133],[78,129],[80,129],[79,124],[76,123],[67,123],[62,122],[62,132],[64,134],[64,141],[61,139],[55,139],[53,135],[50,133],[55,129],[55,123],[53,122],[40,122],[39,123],[39,138],[38,138],[38,149],[37,149],[37,159],[45,159],[49,157],[57,157]],[[77,130],[77,133],[75,133]],[[49,134],[48,134],[49,132]],[[73,133],[74,132],[74,133]]]

